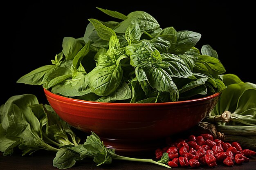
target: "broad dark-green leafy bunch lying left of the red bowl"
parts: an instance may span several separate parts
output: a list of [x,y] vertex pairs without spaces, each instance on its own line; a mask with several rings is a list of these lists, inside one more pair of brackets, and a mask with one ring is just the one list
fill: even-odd
[[12,96],[0,107],[0,152],[4,156],[12,155],[15,149],[22,155],[41,149],[57,152],[60,147],[79,142],[52,107],[39,104],[34,95]]

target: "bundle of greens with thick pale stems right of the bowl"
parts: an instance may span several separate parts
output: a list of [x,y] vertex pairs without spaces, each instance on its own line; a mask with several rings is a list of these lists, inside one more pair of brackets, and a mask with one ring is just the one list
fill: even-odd
[[220,77],[227,88],[203,121],[215,124],[224,140],[256,149],[256,84],[243,82],[234,74]]

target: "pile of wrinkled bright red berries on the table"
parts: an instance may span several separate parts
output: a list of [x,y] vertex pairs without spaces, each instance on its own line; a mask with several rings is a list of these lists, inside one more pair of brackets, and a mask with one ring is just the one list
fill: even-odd
[[238,142],[213,140],[213,136],[208,133],[190,135],[186,140],[177,139],[168,146],[155,150],[158,162],[167,163],[170,167],[215,167],[217,163],[233,166],[234,163],[249,162],[248,157],[254,155],[256,152],[242,149]]

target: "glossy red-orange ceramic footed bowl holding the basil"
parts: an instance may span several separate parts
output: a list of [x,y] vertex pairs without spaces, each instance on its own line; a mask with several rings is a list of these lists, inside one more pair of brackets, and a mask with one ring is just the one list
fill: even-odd
[[155,150],[166,137],[188,130],[206,117],[220,93],[181,102],[103,103],[72,99],[45,90],[54,111],[68,124],[95,132],[117,152]]

